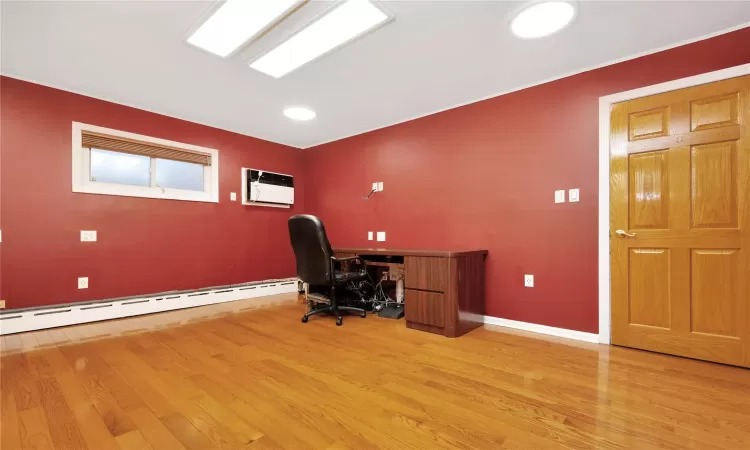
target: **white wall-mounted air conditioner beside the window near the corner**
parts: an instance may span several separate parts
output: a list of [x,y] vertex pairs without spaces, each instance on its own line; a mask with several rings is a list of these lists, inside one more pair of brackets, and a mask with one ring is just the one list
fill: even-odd
[[294,177],[243,167],[242,204],[291,208],[294,204]]

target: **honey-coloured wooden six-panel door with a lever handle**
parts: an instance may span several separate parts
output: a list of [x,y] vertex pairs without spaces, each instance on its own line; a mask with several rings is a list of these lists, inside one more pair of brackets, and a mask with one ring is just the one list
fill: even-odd
[[750,76],[613,106],[612,343],[750,367]]

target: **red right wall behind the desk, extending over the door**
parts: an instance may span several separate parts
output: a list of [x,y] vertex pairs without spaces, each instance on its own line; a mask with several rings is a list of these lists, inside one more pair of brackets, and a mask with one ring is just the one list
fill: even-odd
[[[307,150],[306,208],[334,245],[385,231],[388,247],[488,249],[488,315],[597,332],[598,98],[748,63],[748,43],[745,28]],[[554,204],[570,188],[581,201]]]

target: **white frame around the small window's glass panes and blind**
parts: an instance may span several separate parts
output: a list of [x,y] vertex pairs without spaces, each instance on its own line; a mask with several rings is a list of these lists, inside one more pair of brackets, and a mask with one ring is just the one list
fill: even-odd
[[[158,145],[181,148],[191,152],[203,153],[211,156],[211,165],[204,167],[203,192],[187,189],[171,189],[156,186],[155,161],[151,158],[151,186],[132,186],[127,184],[104,183],[91,181],[91,150],[82,146],[83,131],[104,133],[110,136],[136,139]],[[125,197],[161,198],[167,200],[186,200],[193,202],[219,202],[219,151],[183,144],[126,131],[113,130],[80,122],[73,122],[73,192],[85,194],[119,195]]]

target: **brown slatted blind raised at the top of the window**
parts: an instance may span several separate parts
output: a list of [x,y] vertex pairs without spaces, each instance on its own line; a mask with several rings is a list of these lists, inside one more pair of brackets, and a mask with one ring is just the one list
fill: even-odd
[[211,165],[211,155],[169,147],[167,145],[154,144],[152,142],[109,136],[85,130],[81,133],[81,140],[85,148],[111,150],[113,152],[143,155],[150,158],[171,159],[173,161],[202,164],[204,166]]

